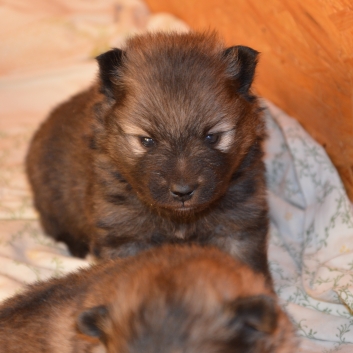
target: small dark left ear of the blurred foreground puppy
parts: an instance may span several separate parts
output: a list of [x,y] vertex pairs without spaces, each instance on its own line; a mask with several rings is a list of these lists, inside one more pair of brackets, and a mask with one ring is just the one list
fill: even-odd
[[108,309],[104,305],[85,310],[77,318],[78,330],[91,337],[101,338],[108,320]]

